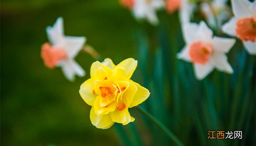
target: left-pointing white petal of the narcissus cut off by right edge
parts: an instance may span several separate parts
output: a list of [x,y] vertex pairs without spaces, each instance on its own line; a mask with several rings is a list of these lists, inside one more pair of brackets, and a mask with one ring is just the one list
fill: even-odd
[[237,17],[232,17],[229,22],[223,24],[222,26],[222,31],[225,34],[231,35],[231,36],[236,36],[236,23],[237,23],[238,18]]

